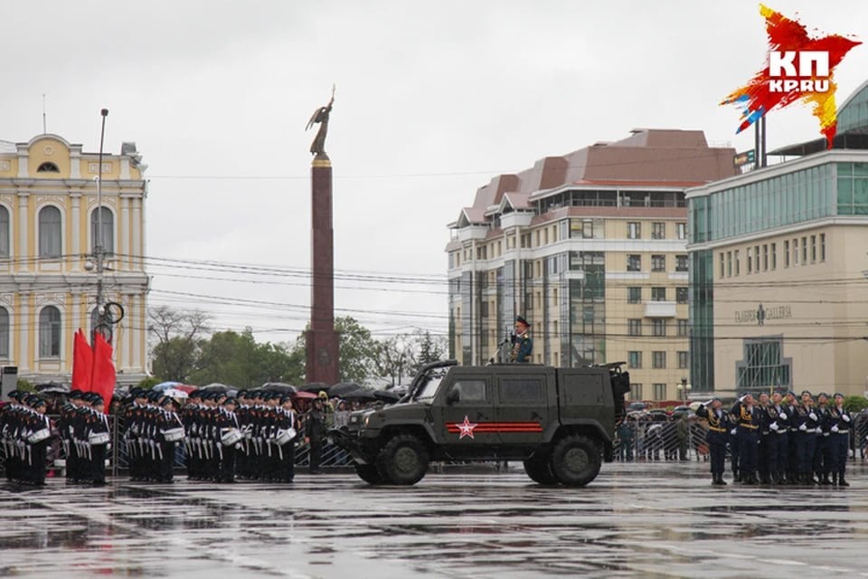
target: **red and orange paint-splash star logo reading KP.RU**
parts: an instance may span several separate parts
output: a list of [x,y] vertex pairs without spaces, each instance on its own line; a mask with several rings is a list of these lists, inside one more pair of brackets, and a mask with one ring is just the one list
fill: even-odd
[[766,67],[721,102],[741,108],[741,125],[735,132],[749,128],[769,110],[801,100],[813,105],[826,147],[832,148],[838,125],[835,66],[861,43],[837,34],[810,38],[804,25],[761,4],[760,14],[766,19],[769,34]]

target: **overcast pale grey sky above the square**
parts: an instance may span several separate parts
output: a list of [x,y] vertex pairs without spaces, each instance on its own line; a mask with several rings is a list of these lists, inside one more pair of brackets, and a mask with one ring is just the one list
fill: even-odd
[[[864,0],[769,6],[868,41]],[[151,268],[150,304],[270,341],[307,321],[304,128],[333,82],[336,314],[375,337],[445,333],[446,225],[477,187],[631,128],[751,148],[718,102],[767,51],[742,0],[0,0],[0,22],[0,139],[42,133],[44,94],[48,131],[97,151],[108,108],[106,150],[135,141],[148,166],[146,253],[178,261]],[[868,79],[868,47],[835,79],[840,103]],[[817,137],[805,107],[769,115],[769,150]]]

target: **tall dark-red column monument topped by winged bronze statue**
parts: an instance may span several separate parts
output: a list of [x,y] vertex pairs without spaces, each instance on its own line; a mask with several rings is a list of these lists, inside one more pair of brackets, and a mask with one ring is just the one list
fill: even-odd
[[307,330],[307,360],[305,375],[307,382],[337,384],[338,341],[335,333],[335,255],[334,232],[332,229],[332,162],[325,154],[325,133],[328,129],[328,115],[335,100],[325,107],[316,109],[307,123],[307,128],[318,123],[310,152],[314,161],[310,167],[311,184],[311,299],[310,329]]

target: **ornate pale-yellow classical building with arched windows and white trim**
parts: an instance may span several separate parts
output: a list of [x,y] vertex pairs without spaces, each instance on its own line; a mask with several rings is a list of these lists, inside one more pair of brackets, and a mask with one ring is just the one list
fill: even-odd
[[99,211],[97,153],[51,134],[0,141],[0,365],[19,378],[69,383],[72,337],[96,319],[98,226],[105,298],[125,310],[118,383],[146,375],[145,168],[133,143],[104,154]]

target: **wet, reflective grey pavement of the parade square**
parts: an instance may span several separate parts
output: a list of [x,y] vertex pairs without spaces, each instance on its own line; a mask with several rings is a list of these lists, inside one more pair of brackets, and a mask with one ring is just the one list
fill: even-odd
[[707,463],[604,464],[585,489],[505,473],[410,488],[0,485],[0,576],[868,577],[868,466],[849,489],[712,487]]

